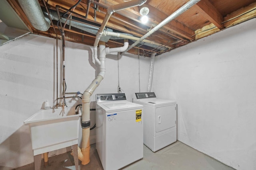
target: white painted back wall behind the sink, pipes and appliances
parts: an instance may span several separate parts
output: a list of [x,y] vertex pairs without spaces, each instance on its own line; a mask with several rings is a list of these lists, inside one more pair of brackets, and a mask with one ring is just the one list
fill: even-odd
[[[30,129],[23,122],[43,108],[44,101],[51,106],[56,99],[56,50],[58,66],[61,58],[61,41],[38,35],[26,35],[16,41],[0,46],[0,169],[13,169],[34,162],[30,142]],[[93,64],[92,47],[66,42],[66,92],[81,93],[86,90],[98,73]],[[119,56],[119,77],[122,92],[128,101],[139,90],[138,56]],[[148,65],[149,59],[140,57],[140,68]],[[91,97],[95,108],[95,94],[117,93],[118,56],[106,56],[106,75]],[[140,70],[142,73],[148,70]],[[62,79],[60,76],[59,79]],[[147,78],[146,78],[147,79]],[[60,80],[59,80],[60,83]],[[144,88],[142,83],[142,88]],[[59,95],[62,84],[58,87]],[[73,95],[66,95],[73,96]],[[80,99],[66,99],[68,107],[81,104]],[[91,125],[95,123],[95,111],[91,111]],[[81,141],[81,135],[79,137]],[[95,143],[95,129],[90,133],[90,143]],[[53,151],[49,156],[66,152]]]

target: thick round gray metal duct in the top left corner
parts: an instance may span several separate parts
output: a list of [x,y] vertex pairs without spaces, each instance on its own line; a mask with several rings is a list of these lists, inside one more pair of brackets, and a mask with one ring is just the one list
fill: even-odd
[[38,0],[18,0],[28,20],[35,29],[47,31],[50,28],[50,20],[46,20]]

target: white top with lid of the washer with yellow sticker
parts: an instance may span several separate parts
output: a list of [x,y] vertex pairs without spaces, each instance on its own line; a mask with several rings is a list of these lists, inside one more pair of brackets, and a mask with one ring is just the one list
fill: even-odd
[[104,109],[106,113],[143,108],[143,106],[140,104],[136,104],[128,101],[99,103],[98,106],[102,107],[102,109]]

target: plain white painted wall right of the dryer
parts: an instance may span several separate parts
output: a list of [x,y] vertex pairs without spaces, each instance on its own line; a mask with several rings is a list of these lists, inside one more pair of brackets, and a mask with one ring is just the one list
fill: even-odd
[[178,140],[256,169],[256,19],[156,57],[154,91],[178,105]]

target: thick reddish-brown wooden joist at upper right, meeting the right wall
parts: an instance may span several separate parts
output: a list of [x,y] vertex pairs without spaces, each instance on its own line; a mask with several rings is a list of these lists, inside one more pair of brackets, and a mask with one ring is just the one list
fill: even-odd
[[209,0],[199,1],[195,7],[199,12],[203,13],[206,18],[213,23],[219,29],[223,29],[223,16],[220,12],[212,5]]

